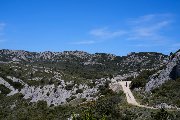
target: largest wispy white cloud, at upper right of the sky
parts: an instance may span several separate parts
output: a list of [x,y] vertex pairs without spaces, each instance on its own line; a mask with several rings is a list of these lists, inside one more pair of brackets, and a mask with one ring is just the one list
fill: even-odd
[[162,31],[172,23],[171,14],[151,14],[133,19],[130,22],[128,40],[156,40],[166,39]]

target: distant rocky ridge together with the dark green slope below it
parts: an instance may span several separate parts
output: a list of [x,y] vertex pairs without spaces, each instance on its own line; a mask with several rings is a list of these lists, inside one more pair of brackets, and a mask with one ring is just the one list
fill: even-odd
[[99,79],[108,77],[109,74],[122,75],[143,69],[157,69],[166,62],[166,58],[166,55],[156,52],[131,53],[121,57],[106,53],[89,54],[83,51],[36,53],[0,50],[0,61],[51,67],[67,74],[63,76],[64,79],[71,79],[72,76]]

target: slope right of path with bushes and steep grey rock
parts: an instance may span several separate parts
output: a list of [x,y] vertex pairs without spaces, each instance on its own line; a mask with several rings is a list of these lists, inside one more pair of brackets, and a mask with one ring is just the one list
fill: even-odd
[[165,108],[179,107],[179,66],[180,51],[177,51],[169,56],[169,61],[163,69],[155,71],[154,74],[142,72],[143,74],[135,78],[131,88],[141,104]]

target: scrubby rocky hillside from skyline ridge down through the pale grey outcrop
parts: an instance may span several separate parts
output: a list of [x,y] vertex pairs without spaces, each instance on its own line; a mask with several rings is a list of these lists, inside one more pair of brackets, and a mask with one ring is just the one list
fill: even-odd
[[44,100],[49,106],[95,100],[106,82],[136,77],[143,70],[162,67],[166,61],[166,55],[155,52],[116,56],[83,51],[37,53],[3,49],[0,92],[7,96],[21,93],[30,102]]

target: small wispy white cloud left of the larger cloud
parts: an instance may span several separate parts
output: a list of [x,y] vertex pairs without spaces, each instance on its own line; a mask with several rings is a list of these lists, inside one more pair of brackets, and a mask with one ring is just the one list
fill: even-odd
[[95,37],[109,39],[109,38],[125,35],[126,31],[124,30],[110,31],[109,28],[106,27],[106,28],[100,28],[100,29],[93,29],[89,32],[89,34]]

